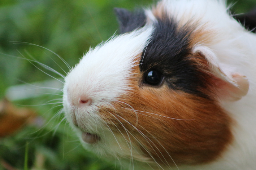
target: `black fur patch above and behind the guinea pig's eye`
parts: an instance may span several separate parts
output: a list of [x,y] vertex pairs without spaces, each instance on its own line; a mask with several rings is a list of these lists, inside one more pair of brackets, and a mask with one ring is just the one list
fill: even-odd
[[190,32],[188,26],[179,28],[173,19],[157,19],[152,38],[140,61],[140,71],[158,70],[164,75],[164,81],[174,90],[185,91],[201,97],[208,97],[202,92],[205,73],[198,64],[190,60]]

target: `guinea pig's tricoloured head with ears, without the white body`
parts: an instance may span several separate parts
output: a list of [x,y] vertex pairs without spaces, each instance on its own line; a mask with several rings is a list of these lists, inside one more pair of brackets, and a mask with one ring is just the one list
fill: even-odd
[[[125,10],[117,14],[137,22]],[[141,28],[121,21],[130,33],[90,50],[66,76],[68,121],[99,155],[165,165],[217,159],[233,139],[219,100],[246,95],[246,77],[227,72],[198,43],[203,29],[163,16],[145,26],[138,14]]]

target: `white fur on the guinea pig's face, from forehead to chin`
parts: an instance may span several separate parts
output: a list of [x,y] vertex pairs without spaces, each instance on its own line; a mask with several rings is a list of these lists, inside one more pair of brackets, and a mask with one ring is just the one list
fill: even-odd
[[[111,105],[110,102],[129,90],[132,68],[135,66],[136,57],[140,57],[147,45],[152,27],[145,27],[132,33],[120,35],[100,44],[90,50],[81,61],[68,73],[65,78],[63,103],[66,118],[72,122],[71,115],[75,115],[79,128],[73,127],[84,147],[98,155],[103,155],[113,160],[133,157],[142,158],[140,150],[130,146],[123,135],[113,134],[108,126],[97,114],[97,106]],[[91,98],[92,104],[88,107],[78,107],[81,97]],[[101,140],[90,145],[82,140],[82,130],[97,134]]]

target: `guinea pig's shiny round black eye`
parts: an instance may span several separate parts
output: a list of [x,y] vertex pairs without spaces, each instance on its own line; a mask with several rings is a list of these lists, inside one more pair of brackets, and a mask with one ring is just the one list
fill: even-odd
[[149,85],[159,85],[162,81],[162,74],[159,71],[151,70],[146,73],[144,83]]

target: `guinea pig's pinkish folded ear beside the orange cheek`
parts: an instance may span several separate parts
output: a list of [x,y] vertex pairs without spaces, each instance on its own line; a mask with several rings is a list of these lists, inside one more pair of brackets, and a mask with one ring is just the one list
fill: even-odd
[[213,73],[217,96],[222,101],[236,101],[245,96],[249,90],[249,81],[245,75],[234,72],[232,68],[219,64],[214,52],[206,46],[196,46],[194,54],[201,54],[207,60],[208,67]]

